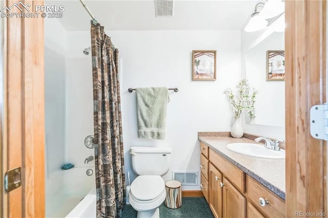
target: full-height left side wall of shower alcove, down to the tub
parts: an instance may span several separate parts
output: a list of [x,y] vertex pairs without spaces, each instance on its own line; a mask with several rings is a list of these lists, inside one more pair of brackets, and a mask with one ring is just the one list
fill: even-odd
[[65,163],[66,30],[57,19],[45,19],[46,176]]

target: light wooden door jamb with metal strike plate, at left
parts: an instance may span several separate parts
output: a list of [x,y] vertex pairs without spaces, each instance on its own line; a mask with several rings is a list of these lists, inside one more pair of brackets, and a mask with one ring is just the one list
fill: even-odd
[[[43,1],[20,1],[43,5]],[[17,2],[5,1],[10,7]],[[10,12],[20,12],[13,7]],[[2,18],[3,19],[3,18]],[[3,193],[4,217],[45,217],[43,18],[5,19],[5,71],[1,78],[4,171],[22,167],[22,186]]]

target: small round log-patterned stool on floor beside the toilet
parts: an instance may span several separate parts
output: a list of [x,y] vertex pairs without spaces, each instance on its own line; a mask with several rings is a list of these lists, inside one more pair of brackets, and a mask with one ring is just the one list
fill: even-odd
[[165,206],[176,209],[182,206],[181,183],[176,180],[169,180],[165,183],[166,199]]

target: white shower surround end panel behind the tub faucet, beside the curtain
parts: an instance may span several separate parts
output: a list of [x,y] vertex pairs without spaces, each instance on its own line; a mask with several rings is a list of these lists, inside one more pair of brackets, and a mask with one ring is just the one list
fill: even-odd
[[94,156],[94,149],[89,149],[84,144],[85,138],[93,135],[91,54],[83,54],[86,47],[88,43],[76,51],[76,57],[70,56],[66,62],[66,161],[73,163],[75,167],[93,168],[94,160],[84,163],[87,157]]

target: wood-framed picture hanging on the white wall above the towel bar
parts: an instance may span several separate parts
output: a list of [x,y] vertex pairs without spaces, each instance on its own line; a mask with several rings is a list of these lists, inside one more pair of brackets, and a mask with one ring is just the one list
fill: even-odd
[[216,80],[216,51],[193,50],[193,80]]

